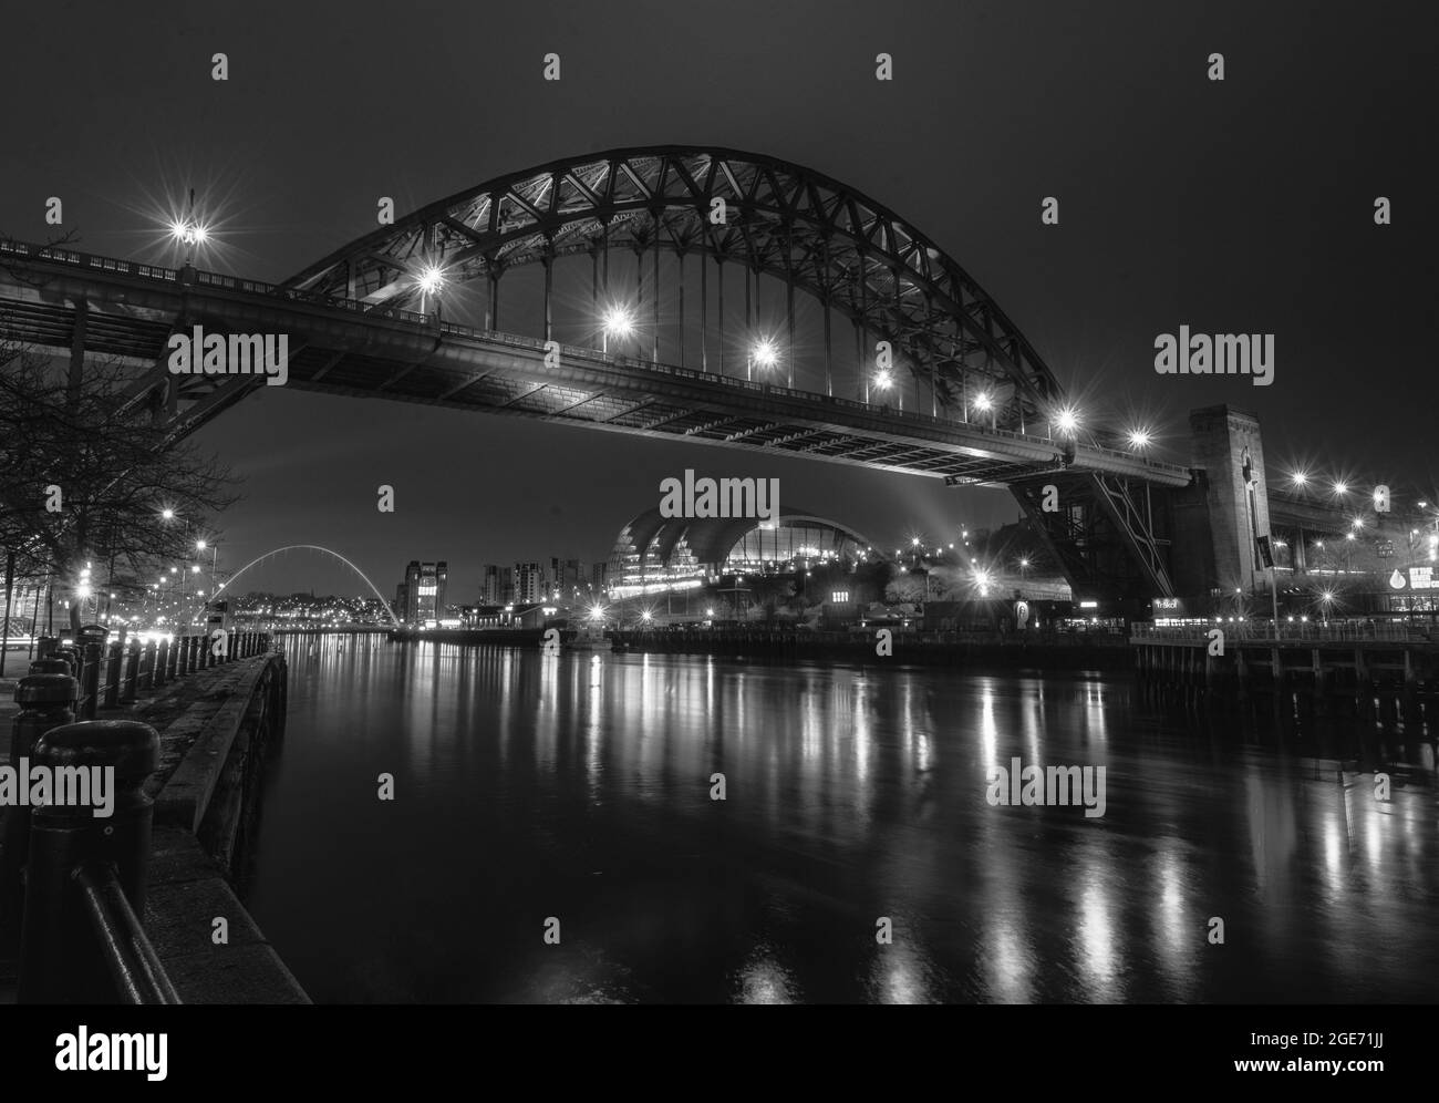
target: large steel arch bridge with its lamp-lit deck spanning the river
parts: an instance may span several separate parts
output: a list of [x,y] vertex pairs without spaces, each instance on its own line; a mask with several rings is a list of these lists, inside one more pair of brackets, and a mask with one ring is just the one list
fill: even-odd
[[[554,276],[566,258],[589,261],[590,343],[551,359]],[[678,292],[673,312],[686,331],[685,258],[699,261],[698,369],[685,366],[684,340],[678,366],[661,359],[662,288]],[[505,331],[501,281],[534,266],[544,276],[541,333]],[[727,269],[731,297],[734,276],[744,279],[738,340]],[[445,274],[437,295],[422,281],[432,271]],[[783,288],[789,386],[748,377],[734,357],[753,333],[761,278]],[[463,292],[476,285],[482,325],[440,318],[472,305]],[[594,347],[600,294],[610,300],[616,288],[653,318],[648,359]],[[822,369],[823,382],[809,387],[794,386],[796,292],[822,307],[823,356],[812,343],[803,367],[813,380]],[[853,325],[853,356],[836,357],[848,343],[833,340],[833,314]],[[1097,431],[1056,435],[1063,396],[1052,372],[955,261],[872,199],[776,158],[649,147],[554,161],[432,203],[279,285],[0,242],[0,333],[69,350],[72,373],[88,353],[128,359],[137,369],[128,406],[164,420],[173,439],[263,386],[259,376],[170,374],[168,337],[193,325],[289,334],[296,389],[1007,485],[1076,590],[1173,593],[1166,497],[1148,490],[1189,487],[1193,472],[1114,448]],[[869,400],[881,340],[917,396],[928,383],[930,412]],[[863,400],[836,395],[836,364],[848,364]],[[1062,514],[1040,504],[1050,482],[1061,485]]]

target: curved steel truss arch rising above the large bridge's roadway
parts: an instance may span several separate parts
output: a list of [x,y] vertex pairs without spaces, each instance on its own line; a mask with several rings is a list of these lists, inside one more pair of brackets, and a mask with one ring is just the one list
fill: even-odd
[[[1019,328],[934,242],[837,180],[735,150],[610,150],[511,173],[351,242],[281,287],[413,308],[423,294],[416,272],[437,269],[455,282],[484,281],[485,328],[498,330],[501,276],[538,264],[547,275],[548,340],[554,262],[590,256],[597,298],[602,268],[609,284],[610,251],[633,252],[637,265],[652,256],[656,285],[662,252],[732,264],[745,274],[747,307],[751,275],[783,281],[790,292],[790,370],[793,292],[810,295],[825,308],[830,395],[827,320],[835,311],[853,323],[862,360],[869,350],[865,334],[888,340],[896,363],[930,380],[938,406],[968,406],[983,396],[991,428],[1023,433],[1043,426],[1062,400]],[[658,311],[659,297],[652,301]],[[702,294],[702,308],[707,304]],[[702,321],[702,334],[705,328]],[[652,333],[658,360],[658,315]],[[718,351],[722,356],[722,336]]]

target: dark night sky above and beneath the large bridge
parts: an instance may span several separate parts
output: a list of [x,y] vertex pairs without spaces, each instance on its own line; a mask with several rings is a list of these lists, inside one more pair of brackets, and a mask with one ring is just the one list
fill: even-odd
[[[807,166],[950,252],[1086,418],[1263,420],[1271,467],[1432,487],[1439,16],[1427,3],[10,6],[0,230],[155,256],[189,186],[206,266],[278,281],[491,177],[620,145],[714,144]],[[210,79],[224,52],[230,79]],[[878,52],[895,79],[875,81]],[[1210,52],[1226,79],[1206,79]],[[541,79],[561,55],[563,79]],[[1043,196],[1061,225],[1043,228]],[[1376,196],[1393,225],[1373,222]],[[1272,333],[1275,383],[1154,373],[1154,337]],[[603,557],[658,481],[780,477],[781,501],[891,544],[1014,516],[1002,491],[266,387],[200,435],[246,478],[222,557],[317,543],[386,593],[448,559]],[[399,511],[374,508],[380,482]],[[350,592],[291,559],[255,585]],[[245,589],[245,587],[242,587]]]

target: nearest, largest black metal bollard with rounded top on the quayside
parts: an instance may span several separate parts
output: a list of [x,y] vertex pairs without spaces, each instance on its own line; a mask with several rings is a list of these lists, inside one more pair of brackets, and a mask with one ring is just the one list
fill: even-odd
[[95,816],[94,806],[35,809],[17,998],[22,1004],[111,1002],[115,955],[102,946],[114,943],[122,955],[130,932],[95,930],[83,883],[112,870],[134,916],[145,914],[154,802],[144,783],[160,766],[160,736],[134,720],[65,724],[40,737],[33,757],[52,770],[114,769],[114,814]]

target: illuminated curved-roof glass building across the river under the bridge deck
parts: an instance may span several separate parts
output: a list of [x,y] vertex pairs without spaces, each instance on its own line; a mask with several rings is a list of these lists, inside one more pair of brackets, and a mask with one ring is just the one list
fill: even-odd
[[646,510],[614,541],[606,572],[610,598],[686,590],[724,577],[793,575],[833,564],[853,570],[884,560],[872,541],[839,521],[780,510],[754,517],[663,517]]

